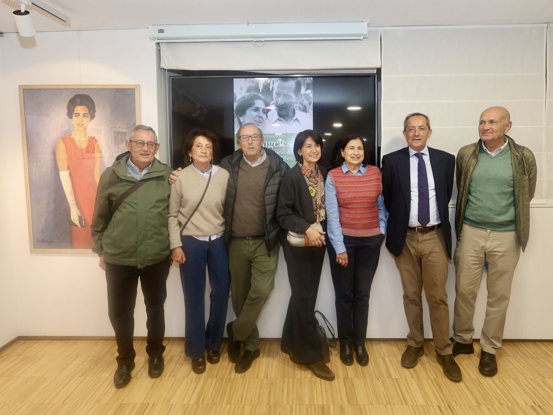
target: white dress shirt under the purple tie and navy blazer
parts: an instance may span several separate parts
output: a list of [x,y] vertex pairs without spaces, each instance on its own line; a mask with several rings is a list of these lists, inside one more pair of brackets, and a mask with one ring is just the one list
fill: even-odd
[[422,153],[422,160],[426,165],[426,176],[428,177],[428,196],[430,201],[430,222],[426,226],[439,224],[440,215],[438,214],[438,202],[436,200],[436,186],[434,175],[432,175],[432,166],[430,165],[430,155],[428,146],[422,151],[415,151],[409,147],[409,170],[411,176],[411,210],[409,212],[409,226],[422,226],[419,223],[419,158],[415,153]]

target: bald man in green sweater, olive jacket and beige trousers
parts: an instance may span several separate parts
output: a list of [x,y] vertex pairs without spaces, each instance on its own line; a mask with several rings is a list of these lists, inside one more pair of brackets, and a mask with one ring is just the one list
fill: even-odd
[[457,154],[453,356],[474,353],[474,303],[486,263],[488,302],[478,369],[487,376],[497,373],[495,353],[503,340],[520,249],[528,244],[536,188],[534,154],[506,135],[511,125],[507,109],[486,109],[478,126],[480,140]]

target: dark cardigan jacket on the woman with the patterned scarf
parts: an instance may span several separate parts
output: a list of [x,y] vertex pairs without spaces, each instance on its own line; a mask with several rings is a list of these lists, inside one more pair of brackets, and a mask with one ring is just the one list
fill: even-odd
[[[319,166],[322,178],[326,180],[325,167]],[[305,182],[299,164],[296,164],[284,175],[276,208],[276,220],[281,228],[296,233],[305,233],[317,218],[313,210],[313,198]],[[281,242],[286,241],[288,232],[283,232]]]

